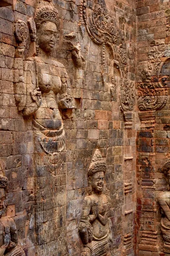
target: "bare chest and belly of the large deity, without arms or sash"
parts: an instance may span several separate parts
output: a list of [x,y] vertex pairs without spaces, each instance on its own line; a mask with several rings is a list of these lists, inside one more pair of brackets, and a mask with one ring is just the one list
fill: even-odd
[[[54,65],[55,64],[55,65]],[[38,86],[42,92],[42,104],[34,114],[34,119],[45,129],[61,130],[63,122],[56,101],[62,82],[57,61],[53,65],[37,62]]]

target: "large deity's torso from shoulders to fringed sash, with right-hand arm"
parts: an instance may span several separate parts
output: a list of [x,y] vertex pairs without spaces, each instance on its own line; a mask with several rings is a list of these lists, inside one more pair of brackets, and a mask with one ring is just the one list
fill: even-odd
[[62,151],[65,146],[65,132],[58,107],[63,98],[65,103],[66,98],[70,97],[66,93],[68,76],[65,67],[50,58],[36,57],[36,70],[37,86],[41,91],[42,102],[34,113],[34,129],[41,138],[40,143],[45,152]]

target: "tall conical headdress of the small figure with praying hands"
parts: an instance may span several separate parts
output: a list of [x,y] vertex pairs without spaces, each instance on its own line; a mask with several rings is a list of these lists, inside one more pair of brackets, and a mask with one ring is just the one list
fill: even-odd
[[95,172],[106,172],[105,158],[102,156],[99,149],[94,151],[91,164],[88,169],[88,177],[92,176]]

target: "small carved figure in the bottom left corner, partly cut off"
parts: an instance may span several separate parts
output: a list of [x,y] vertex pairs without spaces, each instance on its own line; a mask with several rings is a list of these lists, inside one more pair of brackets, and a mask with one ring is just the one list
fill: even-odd
[[6,216],[4,206],[7,177],[0,175],[0,256],[25,256],[18,246],[17,227],[11,217]]

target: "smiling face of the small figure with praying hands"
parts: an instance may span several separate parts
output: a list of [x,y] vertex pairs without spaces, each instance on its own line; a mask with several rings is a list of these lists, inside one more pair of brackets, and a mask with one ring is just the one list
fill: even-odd
[[101,194],[103,190],[105,174],[103,171],[95,172],[91,177],[91,187],[96,194]]

